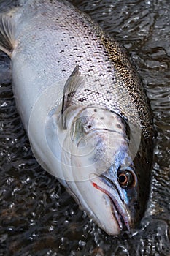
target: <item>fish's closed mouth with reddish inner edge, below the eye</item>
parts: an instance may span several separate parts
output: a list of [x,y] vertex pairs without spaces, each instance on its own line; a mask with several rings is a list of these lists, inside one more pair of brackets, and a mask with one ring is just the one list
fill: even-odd
[[130,231],[130,215],[125,208],[123,195],[120,195],[117,186],[110,181],[106,176],[97,176],[94,180],[90,179],[93,187],[100,190],[107,196],[110,206],[112,208],[112,214],[117,222],[120,231]]

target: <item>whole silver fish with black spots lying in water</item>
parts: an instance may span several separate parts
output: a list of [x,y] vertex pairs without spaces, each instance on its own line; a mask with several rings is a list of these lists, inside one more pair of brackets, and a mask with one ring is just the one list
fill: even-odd
[[1,13],[0,50],[39,165],[107,234],[134,230],[150,193],[154,135],[127,50],[65,0]]

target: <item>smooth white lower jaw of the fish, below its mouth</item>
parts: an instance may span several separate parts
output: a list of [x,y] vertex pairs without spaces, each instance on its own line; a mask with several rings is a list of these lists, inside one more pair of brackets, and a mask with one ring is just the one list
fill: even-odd
[[93,182],[90,180],[75,183],[67,181],[68,191],[72,192],[72,196],[79,204],[80,209],[85,210],[88,217],[98,227],[101,227],[109,236],[118,236],[121,230],[113,214],[111,200],[108,195],[93,186],[94,182],[97,182],[96,178],[93,178]]

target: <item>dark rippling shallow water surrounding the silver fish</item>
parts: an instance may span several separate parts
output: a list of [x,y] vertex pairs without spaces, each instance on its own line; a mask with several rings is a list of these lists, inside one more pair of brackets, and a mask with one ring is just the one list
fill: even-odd
[[[73,2],[128,48],[147,89],[157,131],[147,212],[138,230],[107,236],[39,167],[15,108],[10,61],[0,53],[0,256],[169,256],[170,2]],[[16,3],[0,0],[0,10]]]

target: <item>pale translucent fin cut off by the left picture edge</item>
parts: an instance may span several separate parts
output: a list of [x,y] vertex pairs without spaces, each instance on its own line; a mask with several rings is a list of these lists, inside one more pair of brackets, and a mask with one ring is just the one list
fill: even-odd
[[0,50],[11,56],[14,41],[14,24],[12,18],[0,13]]

